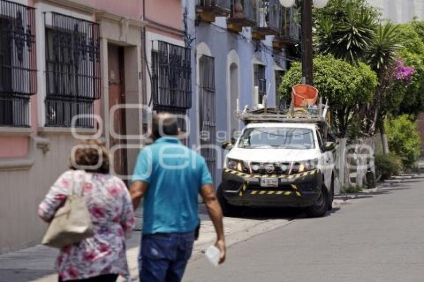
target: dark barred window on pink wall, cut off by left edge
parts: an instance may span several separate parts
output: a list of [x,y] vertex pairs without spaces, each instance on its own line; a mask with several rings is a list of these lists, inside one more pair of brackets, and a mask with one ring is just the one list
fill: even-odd
[[36,93],[34,8],[0,0],[0,126],[29,127]]

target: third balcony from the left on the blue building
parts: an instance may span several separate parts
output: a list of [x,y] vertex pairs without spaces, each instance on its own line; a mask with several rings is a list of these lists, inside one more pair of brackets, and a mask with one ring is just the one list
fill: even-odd
[[257,30],[264,35],[278,34],[281,29],[281,5],[278,0],[259,0]]

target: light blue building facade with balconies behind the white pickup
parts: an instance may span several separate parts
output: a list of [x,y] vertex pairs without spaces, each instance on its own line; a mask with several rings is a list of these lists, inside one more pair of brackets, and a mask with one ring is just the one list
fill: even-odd
[[278,0],[186,0],[183,11],[192,49],[188,144],[201,145],[217,186],[220,144],[242,129],[237,107],[278,105],[277,85],[287,69],[284,47],[297,44],[298,27],[293,10]]

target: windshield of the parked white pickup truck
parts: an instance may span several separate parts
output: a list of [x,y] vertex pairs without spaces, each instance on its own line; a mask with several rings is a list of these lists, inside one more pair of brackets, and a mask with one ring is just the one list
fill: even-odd
[[313,149],[314,138],[307,128],[248,128],[238,142],[239,148]]

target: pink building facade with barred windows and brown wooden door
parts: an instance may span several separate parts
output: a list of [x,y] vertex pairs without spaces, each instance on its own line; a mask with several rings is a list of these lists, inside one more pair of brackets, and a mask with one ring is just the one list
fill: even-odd
[[[161,17],[148,2],[167,2],[162,12],[173,10]],[[40,242],[46,225],[36,216],[38,203],[67,169],[79,139],[103,139],[114,148],[113,173],[123,179],[131,174],[139,142],[127,149],[125,136],[139,135],[142,122],[137,109],[122,105],[147,101],[146,30],[169,29],[170,36],[181,38],[174,15],[181,2],[0,0],[0,5],[3,253]],[[146,11],[152,23],[144,20]]]

